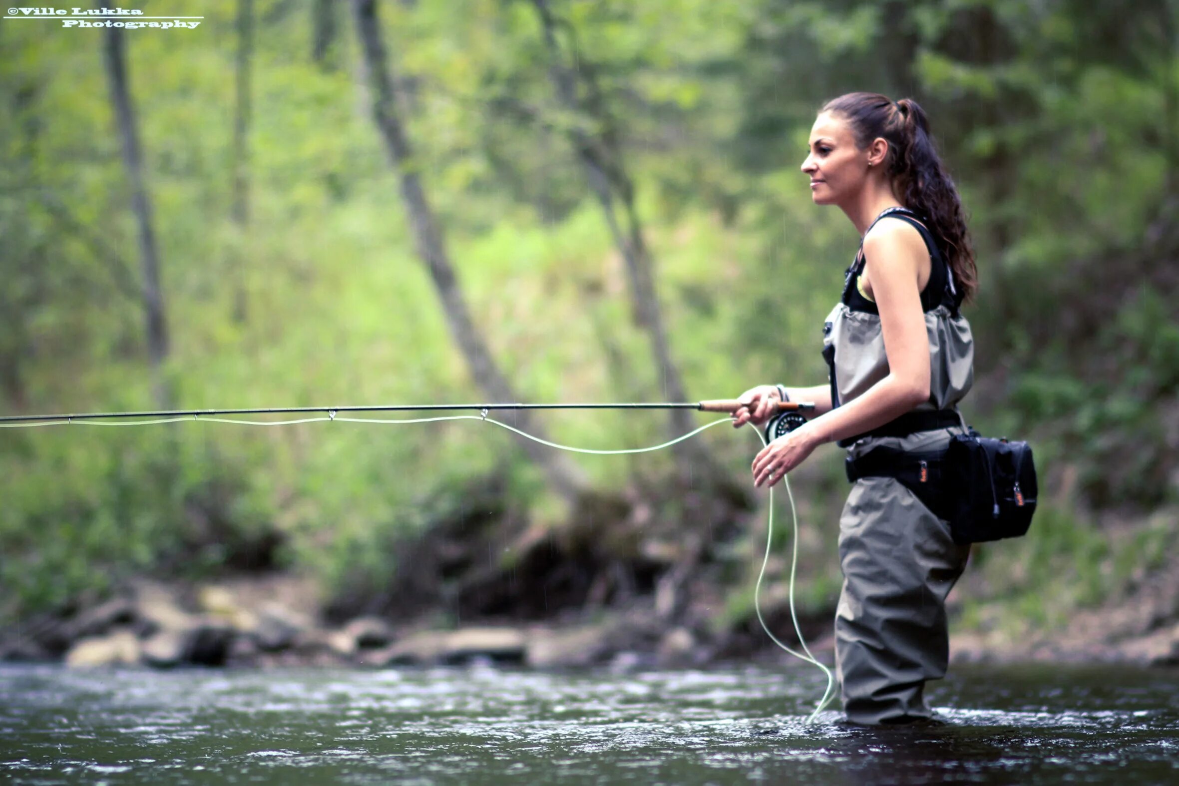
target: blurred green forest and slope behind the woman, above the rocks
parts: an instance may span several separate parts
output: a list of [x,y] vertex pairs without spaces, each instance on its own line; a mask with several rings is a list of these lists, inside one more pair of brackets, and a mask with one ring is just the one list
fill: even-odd
[[[0,22],[4,414],[821,384],[857,237],[798,167],[821,104],[869,90],[927,110],[968,210],[967,420],[1041,474],[1029,535],[975,548],[956,629],[1015,640],[1177,569],[1179,2],[134,7],[204,20]],[[505,420],[601,449],[707,422]],[[0,625],[134,576],[279,570],[337,619],[651,603],[751,629],[759,447],[726,425],[626,457],[466,421],[4,429]],[[791,475],[816,630],[842,454]]]

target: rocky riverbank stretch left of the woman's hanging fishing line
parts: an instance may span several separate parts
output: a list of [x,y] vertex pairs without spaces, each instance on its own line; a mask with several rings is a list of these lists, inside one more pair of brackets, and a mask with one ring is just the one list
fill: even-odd
[[[717,641],[660,623],[652,608],[533,625],[481,622],[437,629],[360,616],[325,626],[315,587],[298,579],[243,579],[196,587],[137,581],[117,596],[0,634],[0,660],[88,668],[143,665],[462,663],[483,659],[538,668],[614,663],[677,666],[712,660]],[[731,639],[731,638],[730,638]],[[731,641],[730,641],[731,643]]]

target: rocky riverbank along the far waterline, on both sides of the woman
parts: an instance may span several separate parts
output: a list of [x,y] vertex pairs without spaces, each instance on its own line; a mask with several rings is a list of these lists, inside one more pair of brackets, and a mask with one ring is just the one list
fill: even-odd
[[[771,601],[772,603],[772,601]],[[185,586],[136,581],[72,614],[0,632],[0,660],[107,666],[429,666],[492,661],[534,668],[703,666],[776,658],[759,629],[714,630],[664,619],[653,603],[565,614],[527,625],[481,620],[442,626],[357,616],[323,622],[312,582],[285,575]],[[788,641],[785,609],[770,614]],[[816,654],[831,660],[828,619],[804,621]],[[1075,615],[1061,630],[1012,640],[956,630],[955,661],[1108,661],[1179,665],[1179,570],[1166,570],[1115,607]]]

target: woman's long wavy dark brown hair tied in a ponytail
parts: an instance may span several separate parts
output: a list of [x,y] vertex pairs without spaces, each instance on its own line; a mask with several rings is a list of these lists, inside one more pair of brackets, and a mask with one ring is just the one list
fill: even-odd
[[971,299],[979,289],[974,247],[962,200],[937,156],[924,110],[911,98],[894,103],[880,93],[847,93],[824,104],[822,112],[843,115],[861,150],[877,137],[888,141],[885,172],[901,202],[927,219],[938,250],[954,271],[959,292],[963,299]]

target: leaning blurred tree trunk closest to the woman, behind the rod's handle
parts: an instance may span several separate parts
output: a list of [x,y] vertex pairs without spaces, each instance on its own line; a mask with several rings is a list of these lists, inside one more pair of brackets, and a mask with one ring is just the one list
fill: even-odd
[[[601,205],[606,224],[614,238],[619,253],[626,263],[630,283],[631,310],[635,324],[647,333],[651,352],[664,378],[664,396],[670,401],[689,401],[679,369],[671,357],[667,345],[667,332],[659,311],[659,297],[656,292],[651,252],[644,237],[643,223],[634,206],[634,184],[626,172],[621,147],[613,133],[615,124],[601,100],[593,77],[592,65],[578,57],[578,71],[571,70],[556,40],[556,24],[549,12],[547,0],[532,0],[540,16],[548,49],[548,74],[556,90],[558,100],[565,110],[575,115],[587,115],[595,128],[594,133],[577,125],[569,127],[568,134],[577,151],[581,166],[586,172],[590,187]],[[587,82],[590,97],[581,100],[578,95],[578,75]],[[722,395],[722,394],[717,394]],[[696,428],[690,410],[668,410],[673,436],[686,434]],[[680,478],[689,483],[693,477],[692,463],[700,464],[700,474],[711,475],[716,464],[699,441],[680,442],[674,448]]]

